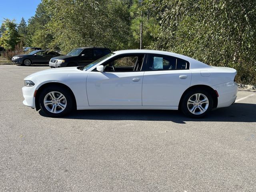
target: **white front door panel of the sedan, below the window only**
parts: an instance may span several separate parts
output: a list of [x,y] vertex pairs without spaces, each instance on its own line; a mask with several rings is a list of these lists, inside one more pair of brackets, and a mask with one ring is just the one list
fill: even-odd
[[89,106],[141,106],[144,72],[94,72],[88,74]]

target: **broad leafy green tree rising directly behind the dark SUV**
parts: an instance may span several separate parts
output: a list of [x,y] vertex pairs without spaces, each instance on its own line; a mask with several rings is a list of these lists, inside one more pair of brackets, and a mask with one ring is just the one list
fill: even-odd
[[125,48],[129,33],[128,4],[122,0],[43,0],[51,14],[47,29],[53,36],[51,48],[63,52],[82,46]]

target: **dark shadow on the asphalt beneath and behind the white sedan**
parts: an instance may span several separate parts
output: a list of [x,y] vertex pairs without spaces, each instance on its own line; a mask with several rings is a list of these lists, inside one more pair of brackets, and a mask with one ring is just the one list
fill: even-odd
[[[42,112],[39,112],[41,115]],[[213,110],[202,119],[188,118],[176,110],[77,110],[64,119],[204,122],[256,122],[256,104],[235,103]]]

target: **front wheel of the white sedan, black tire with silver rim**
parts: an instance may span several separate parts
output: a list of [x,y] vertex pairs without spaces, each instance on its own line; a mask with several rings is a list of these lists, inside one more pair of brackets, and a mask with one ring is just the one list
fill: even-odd
[[[60,100],[56,100],[56,101],[52,102],[52,97],[49,95],[50,92],[54,92],[55,98],[58,98],[60,96],[60,94],[62,94],[64,96],[64,99],[60,98]],[[58,87],[58,86],[47,87],[44,90],[42,90],[42,92],[40,93],[40,96],[39,96],[40,109],[46,116],[49,116],[49,117],[64,116],[64,115],[70,113],[72,111],[72,109],[74,108],[74,100],[71,95],[72,94],[70,93],[70,91],[65,88]],[[47,106],[44,105],[45,98],[46,98],[46,100],[50,101],[50,102],[48,102],[49,104]],[[55,100],[55,98],[54,98],[54,100]],[[52,104],[52,103],[54,103],[54,104]],[[65,104],[66,104],[66,106],[63,107]],[[53,107],[56,108],[55,113],[49,111]],[[64,110],[63,110],[63,108],[64,108]]]

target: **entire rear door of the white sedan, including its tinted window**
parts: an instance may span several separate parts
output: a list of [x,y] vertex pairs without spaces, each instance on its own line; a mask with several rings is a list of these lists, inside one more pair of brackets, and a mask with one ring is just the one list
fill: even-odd
[[149,54],[142,84],[143,106],[178,106],[190,87],[189,62],[171,56]]

